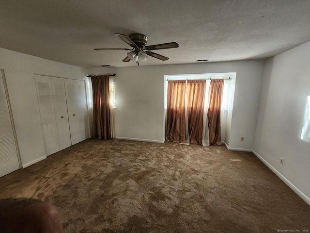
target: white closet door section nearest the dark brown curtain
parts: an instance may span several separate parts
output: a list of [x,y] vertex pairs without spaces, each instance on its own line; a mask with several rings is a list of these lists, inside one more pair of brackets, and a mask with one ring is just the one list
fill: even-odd
[[72,145],[89,138],[85,82],[65,79]]

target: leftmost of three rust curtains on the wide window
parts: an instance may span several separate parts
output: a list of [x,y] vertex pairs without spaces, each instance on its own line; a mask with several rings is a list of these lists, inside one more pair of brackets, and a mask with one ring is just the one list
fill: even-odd
[[186,80],[168,81],[167,140],[186,143]]

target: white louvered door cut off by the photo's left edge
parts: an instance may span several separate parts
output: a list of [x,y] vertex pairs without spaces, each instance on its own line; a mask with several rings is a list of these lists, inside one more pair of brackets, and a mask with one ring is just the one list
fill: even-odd
[[3,70],[0,70],[0,177],[18,170],[19,161]]

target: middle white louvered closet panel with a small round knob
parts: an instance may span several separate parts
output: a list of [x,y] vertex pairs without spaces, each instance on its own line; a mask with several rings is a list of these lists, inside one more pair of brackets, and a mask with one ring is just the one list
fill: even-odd
[[58,132],[59,148],[63,150],[71,146],[67,100],[62,78],[51,77],[55,117]]

